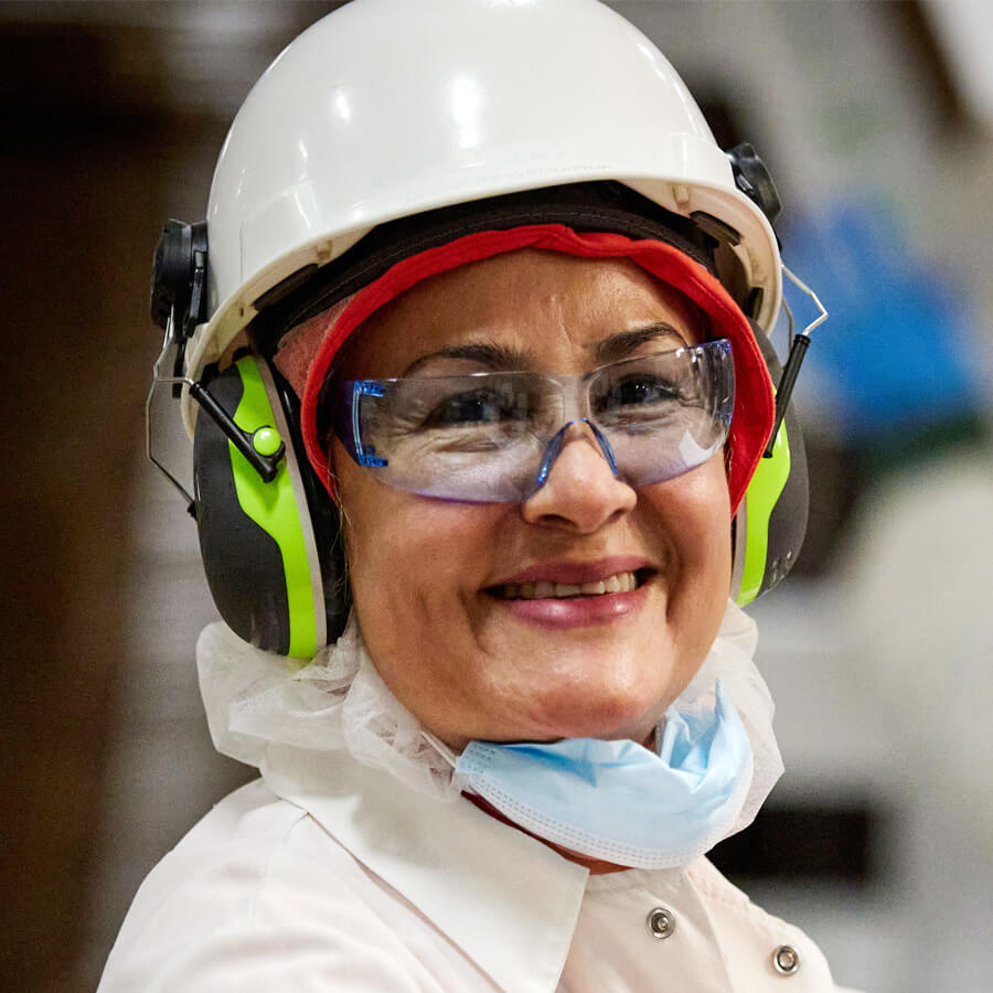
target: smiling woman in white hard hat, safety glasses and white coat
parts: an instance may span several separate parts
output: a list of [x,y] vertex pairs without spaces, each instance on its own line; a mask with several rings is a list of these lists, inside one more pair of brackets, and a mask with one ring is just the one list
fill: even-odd
[[154,297],[263,778],[102,990],[834,989],[703,857],[781,770],[728,600],[802,534],[764,207],[591,0],[356,0],[277,60]]

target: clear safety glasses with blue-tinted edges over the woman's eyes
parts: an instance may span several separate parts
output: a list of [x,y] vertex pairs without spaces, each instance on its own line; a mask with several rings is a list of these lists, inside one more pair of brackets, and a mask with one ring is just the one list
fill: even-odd
[[632,487],[696,468],[727,437],[734,365],[722,339],[577,376],[355,380],[332,395],[334,433],[383,482],[450,500],[522,501],[544,483],[576,423]]

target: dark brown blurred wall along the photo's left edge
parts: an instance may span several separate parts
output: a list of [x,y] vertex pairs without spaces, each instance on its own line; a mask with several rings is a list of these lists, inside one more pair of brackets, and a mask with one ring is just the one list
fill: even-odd
[[[82,25],[0,35],[7,990],[96,979],[74,963],[126,664],[128,513],[158,344],[149,263],[179,163],[223,138],[220,121],[161,106],[156,42]],[[141,85],[115,83],[135,52]]]

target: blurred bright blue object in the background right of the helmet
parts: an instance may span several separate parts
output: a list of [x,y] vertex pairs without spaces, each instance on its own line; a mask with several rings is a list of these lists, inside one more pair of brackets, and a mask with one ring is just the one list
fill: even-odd
[[[831,391],[844,437],[906,439],[979,412],[982,394],[962,333],[967,301],[907,244],[887,203],[831,204],[783,237],[789,266],[831,314],[811,337],[807,361]],[[798,330],[803,318],[797,313]]]

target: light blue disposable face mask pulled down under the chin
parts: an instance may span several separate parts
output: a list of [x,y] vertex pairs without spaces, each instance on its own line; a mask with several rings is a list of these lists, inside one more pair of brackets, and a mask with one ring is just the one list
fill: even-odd
[[[658,736],[658,732],[656,732]],[[634,741],[471,741],[456,762],[484,800],[564,848],[637,868],[687,865],[728,834],[751,746],[720,683],[713,711],[665,715],[658,754]]]

